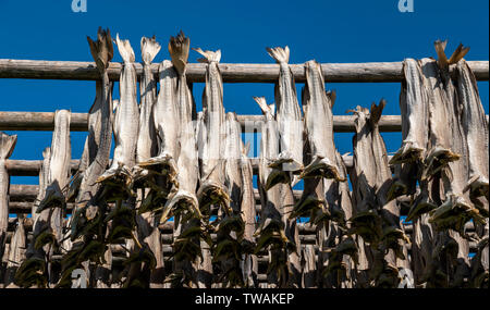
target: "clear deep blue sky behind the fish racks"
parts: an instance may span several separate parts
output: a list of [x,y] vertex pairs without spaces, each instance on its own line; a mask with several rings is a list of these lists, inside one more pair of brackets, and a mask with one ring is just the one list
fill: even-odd
[[[448,51],[463,42],[467,60],[489,59],[489,1],[414,0],[414,13],[400,13],[399,0],[364,1],[123,1],[87,0],[86,13],[73,13],[72,0],[0,0],[0,58],[91,61],[86,36],[98,26],[131,40],[139,55],[142,36],[157,36],[163,46],[156,62],[169,59],[168,39],[180,29],[192,47],[221,49],[222,62],[272,63],[266,47],[287,45],[291,63],[402,61],[434,57],[432,42],[449,39]],[[180,4],[184,3],[184,4]],[[192,52],[189,62],[199,55]],[[114,61],[121,61],[115,51]],[[298,90],[303,85],[298,84]],[[203,84],[194,87],[198,109]],[[479,83],[488,113],[488,82]],[[400,114],[400,84],[328,84],[336,89],[334,114],[357,104],[388,100],[384,114]],[[301,91],[298,91],[301,94]],[[87,112],[94,82],[0,79],[1,111],[71,109]],[[273,101],[270,84],[225,84],[226,111],[260,114],[252,96]],[[118,97],[118,95],[115,96]],[[41,159],[51,144],[50,132],[17,132],[13,159]],[[72,158],[79,158],[86,133],[72,133]],[[383,134],[389,151],[401,134]],[[352,151],[352,134],[336,134],[344,153]],[[37,184],[37,177],[13,177],[14,184]]]

